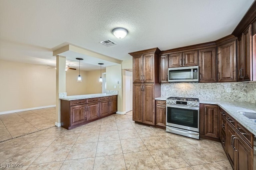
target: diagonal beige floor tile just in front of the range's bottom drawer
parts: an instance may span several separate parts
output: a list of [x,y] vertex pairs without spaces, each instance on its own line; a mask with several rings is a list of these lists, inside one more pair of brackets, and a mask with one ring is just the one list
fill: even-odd
[[160,136],[170,147],[180,147],[185,145],[191,145],[187,141],[185,141],[179,135],[163,135]]

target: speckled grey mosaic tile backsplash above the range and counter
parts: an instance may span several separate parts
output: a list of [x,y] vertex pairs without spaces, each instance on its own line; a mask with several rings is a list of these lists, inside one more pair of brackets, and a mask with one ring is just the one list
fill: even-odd
[[165,83],[161,84],[161,96],[256,103],[256,82]]

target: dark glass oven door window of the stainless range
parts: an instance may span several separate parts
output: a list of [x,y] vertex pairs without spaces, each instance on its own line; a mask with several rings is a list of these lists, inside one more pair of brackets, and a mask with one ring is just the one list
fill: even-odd
[[198,128],[198,110],[167,107],[167,122]]

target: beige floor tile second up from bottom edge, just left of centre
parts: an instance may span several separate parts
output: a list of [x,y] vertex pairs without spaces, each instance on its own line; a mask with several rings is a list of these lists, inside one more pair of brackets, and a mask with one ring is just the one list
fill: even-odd
[[98,142],[96,156],[106,156],[112,154],[122,154],[120,140]]

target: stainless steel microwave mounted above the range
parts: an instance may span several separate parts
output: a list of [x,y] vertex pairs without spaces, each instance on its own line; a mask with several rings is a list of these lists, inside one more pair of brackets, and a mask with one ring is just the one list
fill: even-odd
[[168,82],[198,82],[198,66],[168,68]]

